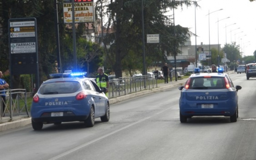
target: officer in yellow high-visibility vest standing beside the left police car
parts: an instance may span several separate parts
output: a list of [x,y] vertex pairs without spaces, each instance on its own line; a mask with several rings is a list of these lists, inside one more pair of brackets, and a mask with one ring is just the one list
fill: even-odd
[[96,76],[96,83],[97,85],[100,87],[100,89],[102,88],[106,88],[106,91],[104,91],[105,95],[108,97],[108,89],[109,89],[109,77],[107,74],[103,73],[103,69],[102,68],[98,68],[98,75]]

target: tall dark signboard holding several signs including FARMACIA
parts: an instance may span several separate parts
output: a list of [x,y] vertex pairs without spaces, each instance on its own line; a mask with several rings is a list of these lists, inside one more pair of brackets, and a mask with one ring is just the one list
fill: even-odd
[[[38,74],[37,21],[35,18],[8,20],[11,75]],[[11,82],[12,83],[12,82]],[[11,85],[12,86],[12,85]]]

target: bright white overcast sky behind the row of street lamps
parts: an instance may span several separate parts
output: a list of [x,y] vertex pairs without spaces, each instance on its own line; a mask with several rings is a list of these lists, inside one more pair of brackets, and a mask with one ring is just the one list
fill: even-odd
[[196,10],[194,5],[174,10],[175,25],[188,27],[198,35],[197,38],[191,36],[191,45],[196,41],[197,45],[209,44],[210,22],[210,44],[219,42],[224,47],[226,43],[236,42],[243,56],[253,55],[256,50],[256,1],[200,0],[198,5]]

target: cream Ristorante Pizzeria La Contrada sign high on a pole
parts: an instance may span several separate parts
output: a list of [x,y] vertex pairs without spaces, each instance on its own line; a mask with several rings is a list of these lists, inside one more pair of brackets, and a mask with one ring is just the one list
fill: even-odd
[[[74,3],[75,23],[94,22],[93,0]],[[63,3],[64,23],[72,23],[72,3]]]

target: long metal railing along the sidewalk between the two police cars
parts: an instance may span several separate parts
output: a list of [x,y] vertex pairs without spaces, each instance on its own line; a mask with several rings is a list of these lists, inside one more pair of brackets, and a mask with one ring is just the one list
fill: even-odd
[[109,80],[109,98],[115,98],[143,90],[157,87],[155,76],[142,75],[136,77],[121,77]]

